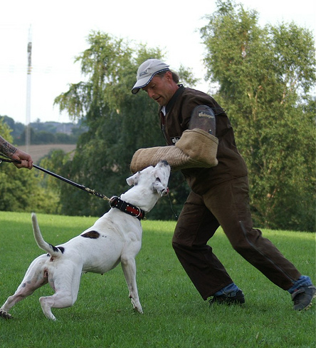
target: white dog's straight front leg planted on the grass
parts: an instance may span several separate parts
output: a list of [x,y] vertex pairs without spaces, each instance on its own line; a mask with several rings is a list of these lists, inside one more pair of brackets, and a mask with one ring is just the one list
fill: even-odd
[[132,300],[133,308],[137,312],[142,313],[142,305],[140,305],[137,284],[136,284],[136,262],[134,257],[121,257],[122,270],[125,275],[128,290],[130,290],[130,299]]

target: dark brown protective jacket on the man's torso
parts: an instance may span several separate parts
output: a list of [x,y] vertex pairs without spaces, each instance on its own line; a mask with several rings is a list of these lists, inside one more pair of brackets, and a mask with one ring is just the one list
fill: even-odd
[[162,133],[167,144],[175,145],[182,133],[188,129],[191,113],[199,105],[211,107],[216,116],[218,165],[213,168],[189,168],[181,171],[190,188],[203,195],[218,183],[247,175],[247,168],[237,150],[233,128],[225,111],[206,93],[181,85],[166,106],[166,116],[161,116]]

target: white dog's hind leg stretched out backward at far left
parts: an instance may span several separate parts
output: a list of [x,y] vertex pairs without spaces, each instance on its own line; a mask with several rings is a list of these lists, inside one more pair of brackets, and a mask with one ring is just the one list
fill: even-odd
[[11,319],[9,309],[14,307],[16,303],[32,295],[38,287],[41,287],[48,282],[46,271],[42,267],[45,261],[46,255],[41,255],[31,263],[21,285],[19,285],[14,295],[9,296],[4,305],[0,308],[0,317]]

